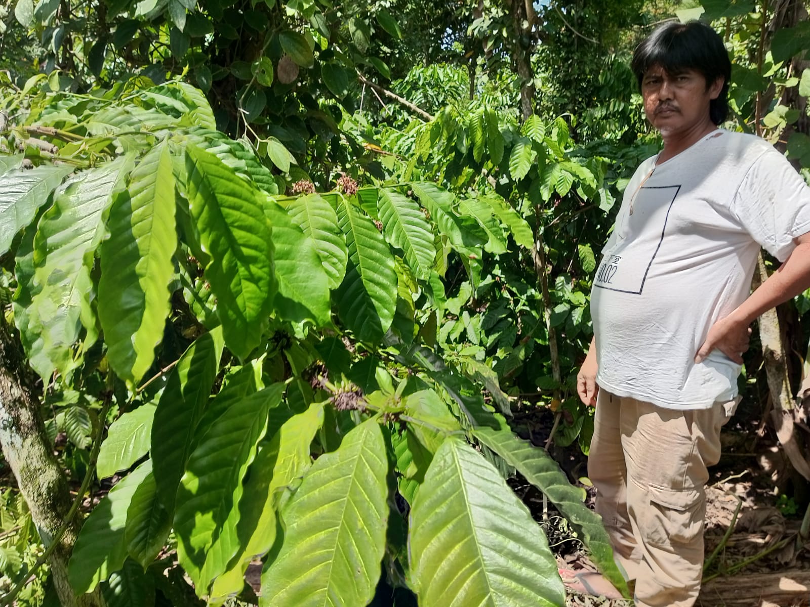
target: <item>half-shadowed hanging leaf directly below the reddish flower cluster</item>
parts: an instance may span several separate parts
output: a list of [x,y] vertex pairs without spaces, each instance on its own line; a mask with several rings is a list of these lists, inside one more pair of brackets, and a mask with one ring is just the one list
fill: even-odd
[[375,342],[394,320],[394,257],[373,221],[345,197],[339,198],[338,223],[349,255],[346,276],[337,291],[338,314],[359,339]]

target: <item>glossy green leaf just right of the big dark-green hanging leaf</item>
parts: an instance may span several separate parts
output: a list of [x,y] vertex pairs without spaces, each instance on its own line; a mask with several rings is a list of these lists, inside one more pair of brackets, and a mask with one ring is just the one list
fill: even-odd
[[279,292],[275,309],[285,320],[312,320],[316,325],[330,321],[329,279],[315,250],[315,243],[287,211],[271,201],[264,203],[267,220],[273,227],[275,279]]

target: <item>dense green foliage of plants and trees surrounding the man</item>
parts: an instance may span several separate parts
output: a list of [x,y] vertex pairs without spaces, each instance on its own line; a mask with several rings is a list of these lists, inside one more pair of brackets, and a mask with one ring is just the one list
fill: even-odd
[[[70,596],[251,601],[261,559],[259,605],[562,605],[515,472],[627,592],[584,490],[510,427],[548,409],[587,452],[590,281],[657,146],[626,60],[676,6],[601,4],[15,3],[0,296],[49,448],[98,479]],[[731,128],[810,166],[806,22],[677,8],[725,28]],[[2,500],[27,579],[53,542]],[[45,592],[18,600],[69,604]]]

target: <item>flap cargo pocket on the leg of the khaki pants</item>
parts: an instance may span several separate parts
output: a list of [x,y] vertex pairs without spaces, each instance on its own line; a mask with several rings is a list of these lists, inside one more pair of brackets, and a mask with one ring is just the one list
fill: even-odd
[[692,544],[703,537],[706,495],[697,489],[673,490],[650,485],[649,517],[639,521],[642,533],[653,545]]

